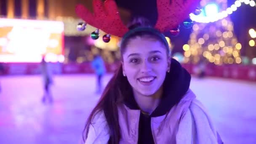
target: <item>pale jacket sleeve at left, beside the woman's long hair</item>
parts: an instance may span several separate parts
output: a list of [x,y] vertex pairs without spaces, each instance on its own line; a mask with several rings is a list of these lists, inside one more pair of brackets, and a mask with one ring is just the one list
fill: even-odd
[[89,126],[85,144],[107,144],[109,137],[109,127],[104,112],[99,112],[95,115],[93,122]]

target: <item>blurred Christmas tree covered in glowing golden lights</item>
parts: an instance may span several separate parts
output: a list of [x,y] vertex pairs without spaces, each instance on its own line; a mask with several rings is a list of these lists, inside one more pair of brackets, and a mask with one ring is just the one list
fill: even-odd
[[191,16],[193,20],[197,19],[201,22],[195,22],[188,44],[183,46],[184,62],[197,64],[200,61],[209,61],[216,65],[240,64],[242,45],[237,42],[233,23],[228,16],[239,4],[227,8],[227,0],[202,0],[200,5],[202,6],[200,15]]

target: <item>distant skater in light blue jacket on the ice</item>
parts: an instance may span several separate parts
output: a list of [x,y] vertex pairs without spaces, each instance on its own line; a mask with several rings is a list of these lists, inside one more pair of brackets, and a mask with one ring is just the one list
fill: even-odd
[[101,79],[102,79],[103,75],[105,74],[106,69],[105,69],[104,61],[99,54],[97,54],[94,57],[94,60],[92,62],[92,67],[97,76],[97,82],[96,82],[97,83],[97,86],[96,86],[97,91],[96,91],[96,93],[101,93],[101,87],[102,87]]

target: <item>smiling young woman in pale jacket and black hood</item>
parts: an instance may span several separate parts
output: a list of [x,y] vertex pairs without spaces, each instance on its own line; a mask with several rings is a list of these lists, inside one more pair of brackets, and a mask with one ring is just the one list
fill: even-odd
[[[93,2],[101,9],[99,0]],[[163,0],[157,2],[165,5]],[[105,2],[107,11],[113,3]],[[102,9],[95,12],[96,18]],[[93,24],[85,8],[78,7],[77,13]],[[162,32],[137,19],[123,35],[120,52],[120,67],[88,117],[85,144],[222,143],[207,111],[189,89],[190,74],[171,59]]]

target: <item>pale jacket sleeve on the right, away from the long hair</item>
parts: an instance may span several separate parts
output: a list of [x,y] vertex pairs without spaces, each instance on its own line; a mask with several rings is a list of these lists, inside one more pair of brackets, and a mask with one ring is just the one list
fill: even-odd
[[192,101],[180,121],[176,142],[177,144],[218,144],[217,131],[212,120],[197,99]]

